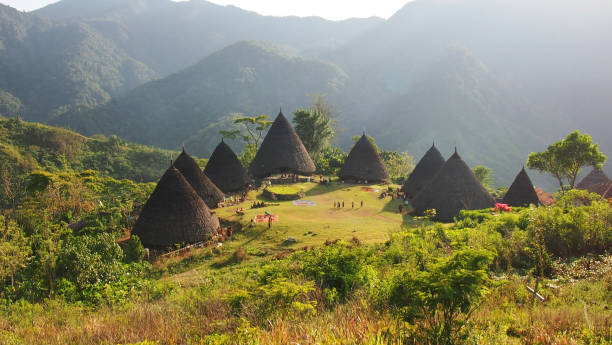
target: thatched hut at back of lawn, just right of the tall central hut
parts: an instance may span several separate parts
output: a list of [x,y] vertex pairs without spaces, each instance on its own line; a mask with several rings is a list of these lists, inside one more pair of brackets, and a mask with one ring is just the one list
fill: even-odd
[[385,165],[365,133],[346,157],[338,176],[344,180],[368,182],[387,182],[389,180]]

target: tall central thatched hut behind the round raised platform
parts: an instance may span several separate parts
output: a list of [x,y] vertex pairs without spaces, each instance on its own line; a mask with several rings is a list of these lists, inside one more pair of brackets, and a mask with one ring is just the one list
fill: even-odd
[[312,175],[315,172],[308,151],[282,110],[261,143],[249,170],[256,177],[281,173]]

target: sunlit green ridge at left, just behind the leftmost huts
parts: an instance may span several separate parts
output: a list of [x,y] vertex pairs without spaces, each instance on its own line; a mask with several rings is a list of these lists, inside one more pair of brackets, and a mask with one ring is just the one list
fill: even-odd
[[170,155],[116,136],[87,138],[63,128],[0,117],[0,170],[14,177],[37,170],[95,170],[117,179],[148,182],[163,174]]

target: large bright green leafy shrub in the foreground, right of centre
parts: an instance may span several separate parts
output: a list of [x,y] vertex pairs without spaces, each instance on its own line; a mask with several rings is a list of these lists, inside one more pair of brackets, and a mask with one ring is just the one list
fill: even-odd
[[425,271],[405,270],[390,283],[388,303],[396,317],[418,325],[418,343],[455,344],[487,291],[491,260],[489,252],[467,249],[439,259]]

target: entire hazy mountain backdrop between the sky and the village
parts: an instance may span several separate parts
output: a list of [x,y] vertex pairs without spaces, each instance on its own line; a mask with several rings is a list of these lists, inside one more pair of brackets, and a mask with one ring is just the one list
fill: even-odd
[[610,42],[606,0],[416,0],[340,22],[202,0],[0,6],[0,111],[206,156],[231,113],[326,94],[345,149],[364,128],[417,157],[436,140],[507,185],[573,129],[612,155]]

